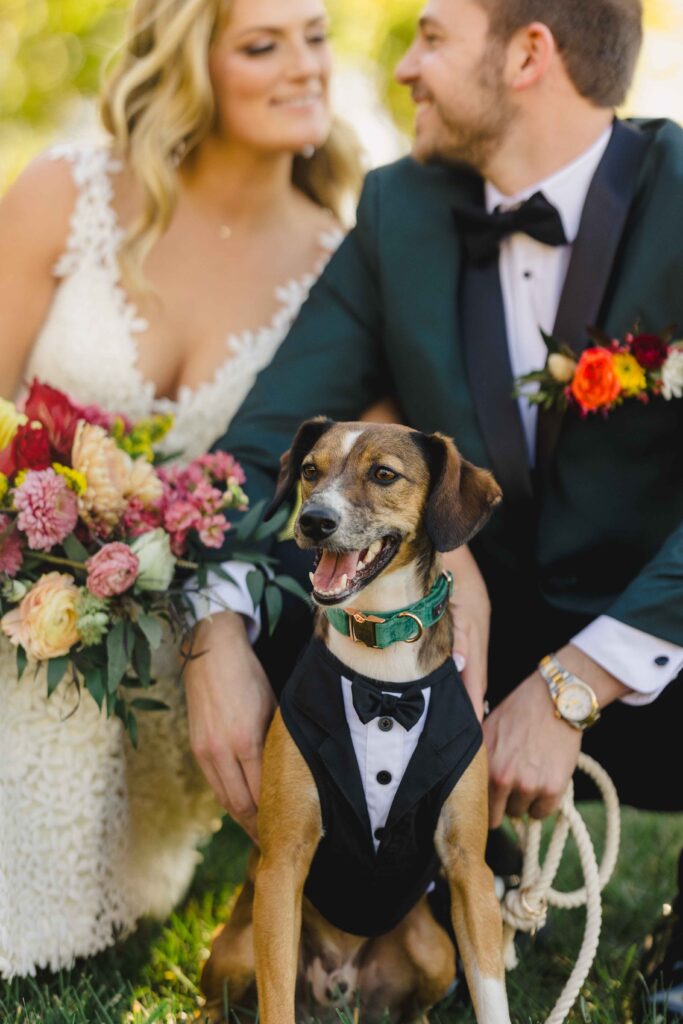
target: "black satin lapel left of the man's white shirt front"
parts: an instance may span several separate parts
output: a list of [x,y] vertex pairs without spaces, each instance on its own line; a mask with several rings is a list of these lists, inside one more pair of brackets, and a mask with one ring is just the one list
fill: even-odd
[[460,282],[461,327],[467,378],[494,475],[504,499],[531,497],[528,452],[508,350],[498,260],[465,264]]

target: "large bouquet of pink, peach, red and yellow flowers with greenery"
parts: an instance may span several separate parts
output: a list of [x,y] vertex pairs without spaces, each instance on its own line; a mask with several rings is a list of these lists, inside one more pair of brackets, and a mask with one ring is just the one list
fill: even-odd
[[50,694],[70,676],[133,742],[135,711],[165,708],[131,693],[153,687],[164,629],[176,638],[187,629],[187,579],[202,592],[209,568],[226,577],[204,552],[232,530],[230,557],[255,563],[249,590],[255,605],[265,598],[271,629],[280,588],[298,590],[244,549],[283,516],[259,524],[259,507],[232,528],[226,512],[248,504],[242,468],[222,452],[165,468],[155,445],[171,425],[133,424],[38,381],[20,408],[0,399],[0,629],[16,647],[19,678],[29,660],[44,663]]

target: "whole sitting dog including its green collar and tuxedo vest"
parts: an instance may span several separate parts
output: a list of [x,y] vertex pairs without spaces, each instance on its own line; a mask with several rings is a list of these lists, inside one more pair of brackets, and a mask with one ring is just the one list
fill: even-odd
[[322,418],[283,456],[266,517],[298,483],[314,636],[268,731],[260,855],[205,966],[207,1012],[221,1020],[223,993],[239,1004],[255,976],[264,1024],[293,1024],[305,993],[318,1018],[417,1020],[455,979],[426,895],[440,872],[476,1020],[510,1024],[485,749],[438,558],[500,488],[441,434]]

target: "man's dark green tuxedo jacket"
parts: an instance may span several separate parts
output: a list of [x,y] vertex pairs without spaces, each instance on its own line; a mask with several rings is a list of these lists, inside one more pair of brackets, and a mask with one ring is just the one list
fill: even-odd
[[[567,622],[605,612],[683,645],[683,398],[627,401],[606,419],[567,413],[547,473],[531,479],[509,368],[503,393],[487,379],[494,297],[482,336],[462,336],[452,208],[481,187],[412,159],[369,174],[355,228],[219,444],[254,502],[271,495],[302,420],[356,419],[393,393],[405,422],[453,436],[503,486],[475,544],[499,622],[539,598]],[[636,322],[675,322],[683,336],[683,130],[667,121],[616,123],[555,333],[580,350],[587,325],[618,337]]]

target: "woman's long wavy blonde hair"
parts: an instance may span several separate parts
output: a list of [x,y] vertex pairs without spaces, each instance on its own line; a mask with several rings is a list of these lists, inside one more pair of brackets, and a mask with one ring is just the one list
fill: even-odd
[[[144,258],[175,210],[177,166],[214,123],[209,48],[230,6],[231,0],[135,0],[123,56],[103,88],[104,127],[144,195],[121,249],[124,272],[140,287]],[[294,159],[294,183],[337,217],[360,179],[357,141],[339,121],[312,157]]]

